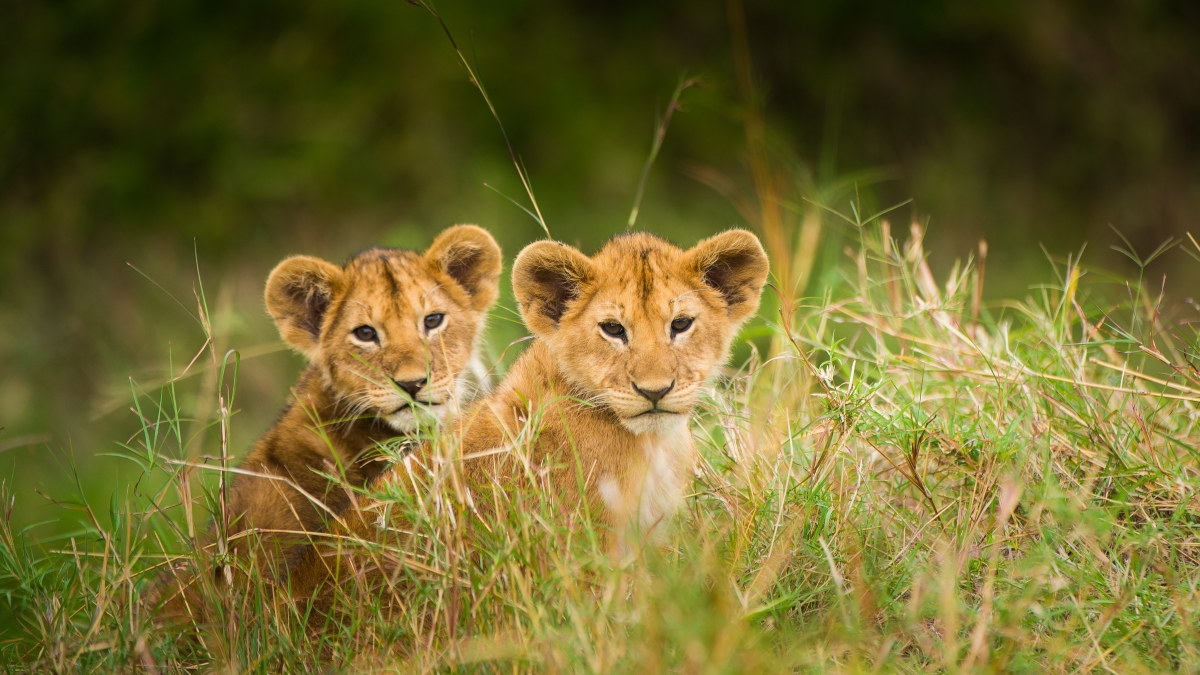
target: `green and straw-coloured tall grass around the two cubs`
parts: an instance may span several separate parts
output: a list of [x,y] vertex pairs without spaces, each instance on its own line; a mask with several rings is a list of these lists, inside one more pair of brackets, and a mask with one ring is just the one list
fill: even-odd
[[178,461],[203,464],[196,438],[232,424],[230,360],[212,400],[196,404],[209,412],[178,407],[172,384],[139,394],[143,434],[126,455],[144,476],[103,507],[65,503],[82,514],[73,537],[14,531],[4,488],[0,590],[19,631],[0,662],[1200,671],[1195,313],[1174,316],[1184,305],[1074,259],[1051,263],[1058,282],[1025,300],[980,303],[974,265],[935,281],[919,231],[902,247],[886,232],[853,228],[841,282],[778,301],[746,329],[760,348],[695,420],[694,490],[659,544],[611,555],[586,513],[544,497],[536,473],[509,486],[512,508],[490,532],[443,485],[440,500],[391,506],[422,524],[419,537],[361,544],[392,574],[382,587],[343,585],[336,623],[312,628],[305,607],[258,581],[215,595],[202,626],[156,626],[138,598],[164,551],[211,557],[190,532],[220,502],[212,477],[202,480],[215,472]]

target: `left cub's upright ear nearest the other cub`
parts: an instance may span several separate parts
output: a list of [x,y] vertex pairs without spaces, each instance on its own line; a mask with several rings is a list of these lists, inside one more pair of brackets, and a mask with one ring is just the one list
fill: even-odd
[[456,225],[430,245],[425,259],[466,288],[476,311],[487,310],[500,292],[500,247],[482,227]]

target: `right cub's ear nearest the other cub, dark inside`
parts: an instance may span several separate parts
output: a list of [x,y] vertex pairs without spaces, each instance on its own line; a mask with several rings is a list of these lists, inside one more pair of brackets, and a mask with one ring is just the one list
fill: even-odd
[[535,335],[558,330],[568,304],[590,279],[592,261],[578,250],[550,240],[529,244],[512,263],[512,293],[521,318]]

